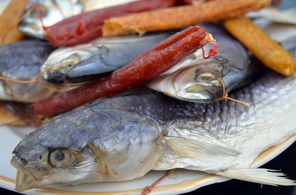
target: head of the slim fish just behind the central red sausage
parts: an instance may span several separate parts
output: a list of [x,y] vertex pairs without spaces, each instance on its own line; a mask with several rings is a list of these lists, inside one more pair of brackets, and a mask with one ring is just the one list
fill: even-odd
[[[42,64],[41,71],[45,71],[54,66],[65,66],[65,67],[56,67],[51,70],[46,71],[42,77],[45,81],[52,84],[64,84],[64,83],[75,83],[73,78],[82,77],[81,74],[83,69],[88,69],[88,66],[91,66],[93,58],[95,58],[94,52],[92,49],[67,49],[67,50],[58,50],[54,52],[48,59]],[[80,68],[80,71],[77,71],[77,67]],[[91,74],[91,73],[89,73]],[[81,81],[81,79],[79,80]]]

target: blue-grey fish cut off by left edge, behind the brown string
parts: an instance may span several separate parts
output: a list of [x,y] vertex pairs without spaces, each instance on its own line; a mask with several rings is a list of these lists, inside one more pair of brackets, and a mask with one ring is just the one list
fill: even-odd
[[[34,80],[40,66],[54,48],[48,42],[24,40],[0,47],[0,76],[19,80]],[[40,84],[22,84],[0,80],[0,99],[17,102],[35,102],[53,94]]]

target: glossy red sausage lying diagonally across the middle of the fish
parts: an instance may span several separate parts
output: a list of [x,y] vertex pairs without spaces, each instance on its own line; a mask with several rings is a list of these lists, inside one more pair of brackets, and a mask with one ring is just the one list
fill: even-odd
[[43,117],[54,116],[99,97],[117,94],[144,84],[167,71],[185,56],[212,42],[214,40],[205,28],[186,28],[151,47],[107,77],[35,103],[35,111]]

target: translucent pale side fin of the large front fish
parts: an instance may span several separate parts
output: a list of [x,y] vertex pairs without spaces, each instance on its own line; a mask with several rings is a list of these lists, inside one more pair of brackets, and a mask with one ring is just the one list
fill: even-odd
[[238,151],[196,139],[180,137],[166,137],[166,142],[171,146],[176,154],[184,158],[193,159],[217,159],[223,156],[237,156]]

